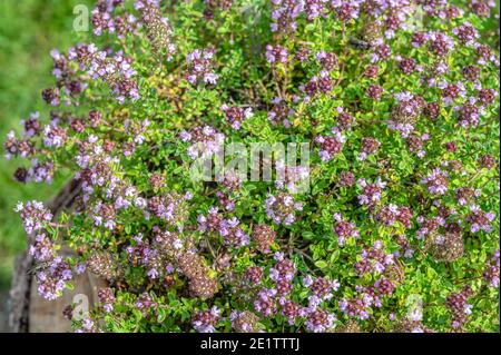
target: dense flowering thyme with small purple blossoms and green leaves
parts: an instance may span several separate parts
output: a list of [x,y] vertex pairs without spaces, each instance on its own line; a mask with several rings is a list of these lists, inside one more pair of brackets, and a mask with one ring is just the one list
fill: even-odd
[[[99,1],[4,144],[19,181],[82,188],[17,207],[40,294],[107,279],[85,332],[499,331],[493,6]],[[232,142],[311,155],[194,179]]]

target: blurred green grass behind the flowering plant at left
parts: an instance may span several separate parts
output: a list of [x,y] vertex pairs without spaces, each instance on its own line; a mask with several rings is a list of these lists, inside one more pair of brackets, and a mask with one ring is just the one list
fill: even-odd
[[[85,0],[0,0],[0,141],[9,130],[21,131],[19,121],[32,111],[47,115],[41,90],[53,85],[52,48],[67,49],[81,33],[72,29],[73,7]],[[91,9],[91,8],[89,8]],[[3,148],[2,148],[3,151]],[[3,154],[2,154],[3,155]],[[12,175],[28,161],[0,158],[0,290],[9,288],[12,262],[26,248],[26,236],[13,211],[18,200],[47,200],[52,186],[20,185]]]

